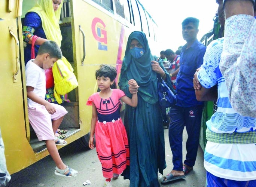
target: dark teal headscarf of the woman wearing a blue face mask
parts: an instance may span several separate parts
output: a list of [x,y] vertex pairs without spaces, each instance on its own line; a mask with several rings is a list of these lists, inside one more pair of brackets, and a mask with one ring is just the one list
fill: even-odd
[[[132,39],[138,40],[145,50],[140,58],[134,58],[130,53]],[[127,85],[127,80],[134,79],[140,86],[138,95],[144,101],[155,104],[158,101],[156,92],[157,79],[156,73],[151,68],[152,55],[149,49],[146,35],[140,31],[134,31],[130,34],[125,50],[125,57],[122,63],[119,86]],[[127,80],[122,79],[127,76]]]

